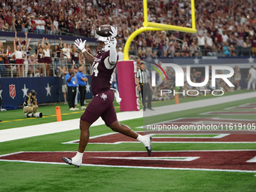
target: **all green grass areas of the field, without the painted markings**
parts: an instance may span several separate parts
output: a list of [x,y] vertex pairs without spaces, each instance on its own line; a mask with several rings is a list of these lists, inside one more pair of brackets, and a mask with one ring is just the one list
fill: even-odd
[[[197,97],[202,99],[203,97]],[[180,99],[180,102],[197,98]],[[208,98],[207,98],[208,99]],[[173,102],[173,101],[168,101]],[[233,119],[254,119],[254,115],[200,115],[207,111],[224,111],[224,108],[255,102],[254,99],[245,99],[238,102],[228,102],[209,108],[196,108],[194,110],[180,111],[167,114],[160,119],[171,120],[178,117],[226,117]],[[159,102],[153,104],[154,107]],[[161,105],[163,104],[160,103]],[[17,126],[27,126],[35,123],[56,121],[55,106],[41,107],[49,116],[38,119],[25,119],[22,110],[5,111],[10,122],[0,123],[3,129]],[[67,105],[60,105],[62,120],[79,118],[82,111],[70,112]],[[116,108],[117,111],[119,110]],[[65,115],[69,113],[69,115]],[[64,115],[63,115],[64,114]],[[5,113],[1,114],[2,120]],[[161,115],[163,116],[163,115]],[[16,120],[22,118],[25,120]],[[132,127],[142,126],[142,118],[125,120],[122,123]],[[90,136],[110,133],[105,125],[90,128]],[[45,136],[35,136],[17,141],[0,143],[0,154],[17,151],[77,151],[78,145],[63,145],[79,138],[80,131],[72,130],[63,133],[54,133]],[[189,151],[189,150],[221,150],[221,149],[255,149],[256,144],[153,144],[154,151]],[[122,143],[119,145],[89,144],[87,151],[145,151],[141,144]],[[145,151],[146,153],[146,151]],[[241,172],[207,172],[185,170],[160,169],[128,169],[106,168],[95,166],[49,165],[38,163],[0,162],[0,191],[254,191],[256,188],[255,173]]]

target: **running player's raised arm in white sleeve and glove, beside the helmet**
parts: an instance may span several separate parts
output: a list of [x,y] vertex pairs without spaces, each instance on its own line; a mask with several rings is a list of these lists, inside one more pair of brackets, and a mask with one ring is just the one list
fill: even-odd
[[117,63],[117,40],[115,37],[117,36],[117,28],[111,26],[111,34],[110,38],[110,50],[109,50],[109,63],[111,65],[115,65]]

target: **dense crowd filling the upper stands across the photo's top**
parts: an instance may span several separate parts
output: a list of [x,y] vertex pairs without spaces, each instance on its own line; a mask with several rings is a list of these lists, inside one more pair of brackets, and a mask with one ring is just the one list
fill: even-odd
[[[248,56],[256,53],[256,3],[251,0],[195,1],[197,34],[143,32],[130,54],[151,56]],[[102,24],[117,26],[122,47],[144,20],[143,3],[124,0],[4,0],[0,29],[45,34],[69,32],[96,37]],[[191,27],[190,1],[148,1],[148,21]]]

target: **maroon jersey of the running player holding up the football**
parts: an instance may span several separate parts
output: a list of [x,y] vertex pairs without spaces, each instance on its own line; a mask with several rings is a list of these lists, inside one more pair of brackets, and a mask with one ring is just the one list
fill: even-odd
[[94,57],[94,62],[92,66],[93,95],[110,90],[111,75],[114,72],[114,69],[116,66],[114,66],[112,69],[105,68],[104,60],[108,56],[109,56],[109,50],[105,53],[97,54],[96,57]]

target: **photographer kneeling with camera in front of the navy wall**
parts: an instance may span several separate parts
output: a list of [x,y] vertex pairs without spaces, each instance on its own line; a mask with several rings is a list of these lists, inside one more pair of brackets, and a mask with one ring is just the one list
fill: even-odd
[[26,117],[42,117],[43,114],[38,111],[38,101],[35,98],[35,90],[30,90],[29,96],[25,97],[25,102],[23,103],[23,111]]

